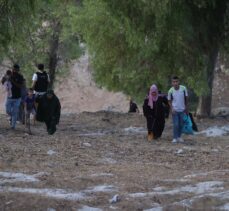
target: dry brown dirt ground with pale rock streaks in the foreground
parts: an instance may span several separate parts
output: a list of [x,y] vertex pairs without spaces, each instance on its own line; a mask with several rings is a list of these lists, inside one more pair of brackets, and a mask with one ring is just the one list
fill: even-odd
[[142,115],[101,111],[62,115],[53,136],[41,123],[27,135],[0,118],[0,210],[229,210],[228,134],[172,144],[169,119],[148,142]]

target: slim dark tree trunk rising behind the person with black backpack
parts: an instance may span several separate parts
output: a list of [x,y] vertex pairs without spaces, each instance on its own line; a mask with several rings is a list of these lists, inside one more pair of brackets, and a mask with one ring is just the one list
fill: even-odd
[[49,77],[50,84],[49,88],[53,88],[53,83],[56,75],[56,67],[58,62],[58,48],[59,48],[59,36],[61,31],[60,22],[55,22],[53,24],[53,34],[50,40],[50,50],[49,50]]

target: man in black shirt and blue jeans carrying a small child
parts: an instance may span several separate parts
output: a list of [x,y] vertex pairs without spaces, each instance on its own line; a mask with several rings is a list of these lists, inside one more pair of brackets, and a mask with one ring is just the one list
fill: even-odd
[[15,64],[13,66],[12,75],[10,77],[10,82],[12,84],[11,97],[8,97],[6,108],[7,108],[7,114],[10,115],[10,126],[11,129],[15,129],[16,122],[18,118],[18,112],[19,112],[19,106],[21,103],[21,88],[23,86],[24,78],[19,73],[20,66],[18,64]]

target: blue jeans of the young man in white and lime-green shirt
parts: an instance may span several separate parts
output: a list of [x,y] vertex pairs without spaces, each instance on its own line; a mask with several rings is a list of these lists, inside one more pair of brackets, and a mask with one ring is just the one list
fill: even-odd
[[177,139],[181,137],[182,127],[184,124],[183,116],[184,112],[175,112],[173,116],[173,138]]

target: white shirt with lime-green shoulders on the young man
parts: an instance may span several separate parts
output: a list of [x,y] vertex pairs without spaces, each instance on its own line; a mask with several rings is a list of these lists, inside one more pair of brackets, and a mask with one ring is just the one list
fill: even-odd
[[168,100],[172,101],[173,110],[177,112],[183,112],[185,110],[185,97],[188,96],[188,92],[185,86],[180,85],[176,90],[172,87],[168,92]]

